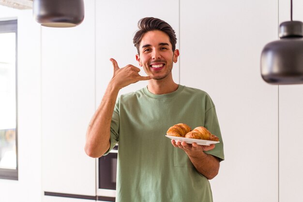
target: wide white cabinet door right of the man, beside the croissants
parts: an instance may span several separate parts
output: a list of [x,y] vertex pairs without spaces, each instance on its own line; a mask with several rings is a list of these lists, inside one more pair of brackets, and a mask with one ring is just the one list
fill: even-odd
[[277,39],[278,2],[180,2],[180,83],[210,94],[224,142],[214,201],[278,201],[278,87],[260,76],[262,48]]

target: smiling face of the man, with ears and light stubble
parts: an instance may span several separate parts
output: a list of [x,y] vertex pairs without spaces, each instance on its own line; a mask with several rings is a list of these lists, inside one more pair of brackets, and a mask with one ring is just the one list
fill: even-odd
[[136,60],[152,79],[171,77],[173,62],[177,62],[179,50],[172,51],[169,37],[165,32],[160,30],[146,32],[140,42],[139,52]]

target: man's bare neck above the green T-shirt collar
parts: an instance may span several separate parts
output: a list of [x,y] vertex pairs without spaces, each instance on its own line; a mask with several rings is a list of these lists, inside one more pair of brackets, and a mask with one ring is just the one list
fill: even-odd
[[172,80],[172,77],[160,80],[151,79],[147,85],[148,90],[156,95],[172,93],[178,87],[179,85]]

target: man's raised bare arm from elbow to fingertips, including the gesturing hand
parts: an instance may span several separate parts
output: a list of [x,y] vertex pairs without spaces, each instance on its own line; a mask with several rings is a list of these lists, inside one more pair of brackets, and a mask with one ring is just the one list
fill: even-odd
[[119,68],[115,59],[113,63],[114,75],[106,88],[103,99],[91,118],[86,133],[85,152],[92,158],[99,158],[105,154],[110,146],[110,124],[119,90],[138,81],[149,80],[150,76],[140,76],[140,69],[127,65]]

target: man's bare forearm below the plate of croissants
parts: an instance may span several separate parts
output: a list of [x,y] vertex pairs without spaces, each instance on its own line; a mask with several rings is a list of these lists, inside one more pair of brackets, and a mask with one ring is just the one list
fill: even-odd
[[203,174],[207,179],[212,179],[218,174],[220,162],[216,157],[204,152],[196,156],[188,155],[188,157],[197,171]]

